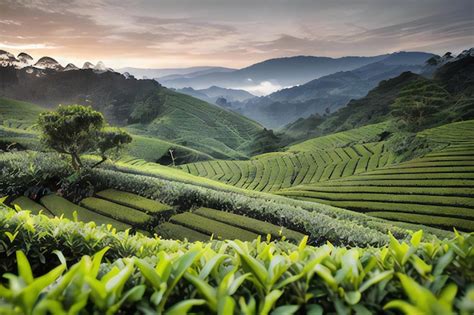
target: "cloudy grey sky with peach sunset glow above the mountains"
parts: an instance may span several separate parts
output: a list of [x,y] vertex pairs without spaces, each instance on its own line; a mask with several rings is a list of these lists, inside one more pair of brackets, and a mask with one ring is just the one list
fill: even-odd
[[0,49],[66,64],[241,68],[474,47],[474,0],[0,0]]

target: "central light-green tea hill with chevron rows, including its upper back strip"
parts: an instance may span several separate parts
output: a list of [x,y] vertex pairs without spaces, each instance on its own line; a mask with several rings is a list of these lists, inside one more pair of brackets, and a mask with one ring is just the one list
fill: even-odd
[[396,157],[386,143],[376,141],[389,127],[389,123],[381,123],[319,137],[247,161],[214,160],[180,167],[193,175],[240,188],[274,192],[393,163]]

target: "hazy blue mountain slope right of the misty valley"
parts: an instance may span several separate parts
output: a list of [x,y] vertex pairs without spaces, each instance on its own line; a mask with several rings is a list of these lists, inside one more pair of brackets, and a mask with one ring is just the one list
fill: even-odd
[[269,128],[279,128],[312,114],[329,114],[351,99],[365,96],[377,84],[399,74],[420,73],[433,54],[400,52],[351,71],[335,72],[308,83],[231,106]]

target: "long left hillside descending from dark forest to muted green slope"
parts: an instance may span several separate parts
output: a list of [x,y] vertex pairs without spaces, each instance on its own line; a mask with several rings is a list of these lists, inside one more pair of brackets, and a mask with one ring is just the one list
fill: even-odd
[[[0,96],[47,108],[59,104],[90,105],[111,124],[126,127],[134,134],[157,137],[214,158],[246,158],[255,150],[253,142],[267,136],[256,122],[169,90],[155,80],[92,70],[34,71],[0,67],[4,78]],[[270,136],[269,142],[273,141]]]

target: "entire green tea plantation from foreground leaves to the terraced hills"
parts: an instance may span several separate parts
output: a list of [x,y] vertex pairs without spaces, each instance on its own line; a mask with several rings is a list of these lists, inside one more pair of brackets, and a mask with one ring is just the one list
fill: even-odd
[[[206,118],[182,105],[167,117]],[[76,171],[41,146],[37,114],[8,115],[0,314],[474,312],[474,121],[403,141],[386,121],[246,160],[214,157],[247,158],[250,122],[219,144],[184,128],[198,151],[155,121]]]

